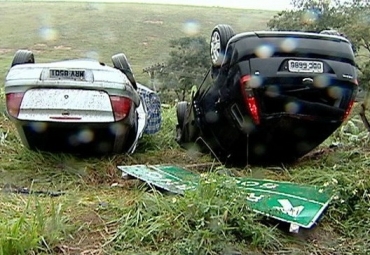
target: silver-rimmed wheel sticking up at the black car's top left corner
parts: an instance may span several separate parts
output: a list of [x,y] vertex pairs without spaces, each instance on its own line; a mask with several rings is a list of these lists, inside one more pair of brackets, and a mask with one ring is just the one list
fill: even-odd
[[211,35],[210,53],[212,66],[219,67],[224,59],[227,43],[234,36],[234,30],[231,26],[220,24],[217,25]]

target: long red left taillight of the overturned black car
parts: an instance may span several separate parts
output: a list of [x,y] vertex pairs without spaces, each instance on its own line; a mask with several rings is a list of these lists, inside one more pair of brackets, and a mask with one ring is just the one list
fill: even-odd
[[250,83],[249,83],[250,80],[251,80],[250,75],[243,76],[240,79],[240,87],[242,90],[244,104],[248,108],[247,110],[250,112],[254,123],[259,124],[260,116],[259,116],[258,104],[257,104],[256,98],[253,93],[253,88],[250,86]]

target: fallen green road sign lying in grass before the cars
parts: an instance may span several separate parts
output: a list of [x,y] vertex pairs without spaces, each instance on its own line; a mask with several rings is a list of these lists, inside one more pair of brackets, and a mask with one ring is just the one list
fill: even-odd
[[[132,165],[118,168],[125,174],[177,194],[196,189],[201,178],[177,166]],[[245,192],[245,199],[253,211],[291,223],[292,232],[297,232],[299,227],[312,227],[332,198],[329,191],[291,182],[240,177],[228,177],[226,182]]]

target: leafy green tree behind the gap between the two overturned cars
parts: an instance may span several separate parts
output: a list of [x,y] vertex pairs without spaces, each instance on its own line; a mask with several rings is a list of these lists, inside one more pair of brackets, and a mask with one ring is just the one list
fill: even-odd
[[159,74],[162,89],[172,90],[183,101],[194,84],[199,84],[209,64],[209,45],[203,37],[183,37],[170,41],[171,51]]

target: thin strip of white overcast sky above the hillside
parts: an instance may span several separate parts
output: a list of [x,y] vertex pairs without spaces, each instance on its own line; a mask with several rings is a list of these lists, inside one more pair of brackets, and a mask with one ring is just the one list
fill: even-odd
[[231,8],[265,9],[265,10],[285,10],[290,7],[291,2],[291,0],[105,0],[105,1],[204,5],[204,6],[221,6]]

